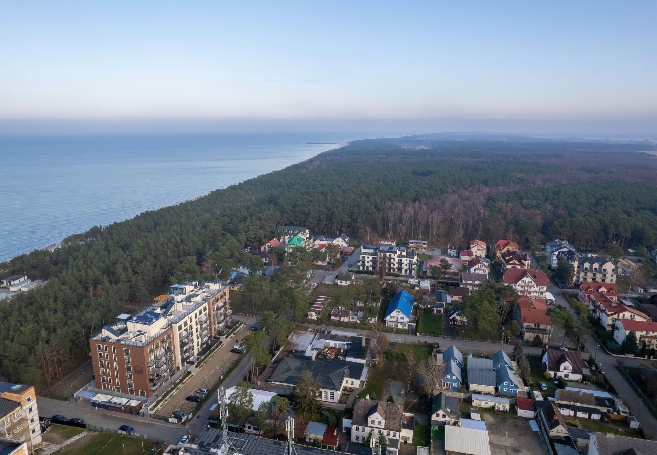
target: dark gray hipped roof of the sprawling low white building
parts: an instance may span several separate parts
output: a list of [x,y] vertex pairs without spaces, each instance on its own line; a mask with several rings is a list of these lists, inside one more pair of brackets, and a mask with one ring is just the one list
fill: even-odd
[[277,382],[295,386],[305,370],[310,371],[319,387],[329,390],[340,390],[345,377],[360,379],[364,364],[343,362],[326,358],[315,358],[313,361],[305,356],[290,356],[283,358],[277,366],[269,382]]

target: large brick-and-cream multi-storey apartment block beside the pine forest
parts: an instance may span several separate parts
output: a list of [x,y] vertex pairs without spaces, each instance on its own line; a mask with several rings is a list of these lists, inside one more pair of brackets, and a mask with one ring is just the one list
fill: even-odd
[[172,285],[154,305],[120,314],[91,337],[96,388],[154,395],[227,331],[231,314],[228,288],[220,282]]

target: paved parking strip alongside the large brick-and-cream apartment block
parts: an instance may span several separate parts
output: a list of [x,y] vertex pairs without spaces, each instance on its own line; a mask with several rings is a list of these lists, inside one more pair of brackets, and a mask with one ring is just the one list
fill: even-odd
[[189,414],[194,409],[194,406],[196,406],[196,403],[187,401],[187,396],[196,395],[201,398],[200,395],[196,394],[198,389],[204,388],[209,390],[219,381],[223,373],[231,368],[231,365],[239,356],[231,352],[231,349],[233,349],[234,345],[238,344],[238,340],[243,339],[250,331],[250,327],[242,327],[234,337],[231,337],[222,347],[215,350],[212,357],[205,362],[200,370],[196,371],[183,387],[171,396],[155,414],[166,417],[170,416],[173,411],[182,411],[185,414]]

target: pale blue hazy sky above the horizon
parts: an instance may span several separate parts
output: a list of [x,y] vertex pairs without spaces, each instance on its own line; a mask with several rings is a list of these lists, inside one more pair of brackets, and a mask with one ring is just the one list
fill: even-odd
[[0,133],[657,135],[656,19],[652,0],[0,0]]

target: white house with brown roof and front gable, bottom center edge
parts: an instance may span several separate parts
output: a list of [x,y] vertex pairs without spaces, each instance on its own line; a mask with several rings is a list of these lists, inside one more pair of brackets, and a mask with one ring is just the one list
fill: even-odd
[[[364,443],[370,431],[388,440],[386,453],[397,454],[402,437],[404,410],[401,404],[361,398],[353,404],[351,442]],[[377,436],[378,437],[378,436]],[[411,439],[413,441],[412,432]]]

